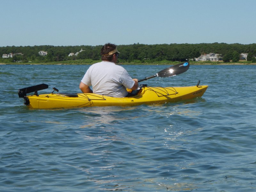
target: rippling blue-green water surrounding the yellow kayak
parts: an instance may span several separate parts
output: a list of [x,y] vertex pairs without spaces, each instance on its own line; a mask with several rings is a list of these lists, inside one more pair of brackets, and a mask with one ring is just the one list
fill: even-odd
[[[0,65],[0,191],[256,191],[256,66],[190,66],[150,86],[187,103],[38,110],[19,88],[80,92],[87,65]],[[168,67],[124,66],[144,78]]]

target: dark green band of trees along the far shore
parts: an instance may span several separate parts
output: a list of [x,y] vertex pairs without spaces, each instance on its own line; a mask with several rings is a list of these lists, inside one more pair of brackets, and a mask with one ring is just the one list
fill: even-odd
[[[6,46],[0,47],[1,62],[60,62],[75,60],[100,60],[102,45],[90,46]],[[200,55],[214,52],[221,54],[224,62],[237,62],[241,53],[248,53],[247,60],[255,62],[256,44],[226,44],[226,43],[200,43],[200,44],[130,44],[117,45],[119,62],[154,63],[160,61],[186,61]],[[79,52],[80,50],[83,50]],[[47,51],[46,56],[40,56],[39,51]],[[79,52],[77,56],[68,56],[69,53]],[[3,54],[16,54],[13,58],[2,58]]]

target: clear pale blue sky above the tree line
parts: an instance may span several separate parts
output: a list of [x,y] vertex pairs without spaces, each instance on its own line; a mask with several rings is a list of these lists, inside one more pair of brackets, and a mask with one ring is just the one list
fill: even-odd
[[255,0],[0,3],[0,46],[256,43]]

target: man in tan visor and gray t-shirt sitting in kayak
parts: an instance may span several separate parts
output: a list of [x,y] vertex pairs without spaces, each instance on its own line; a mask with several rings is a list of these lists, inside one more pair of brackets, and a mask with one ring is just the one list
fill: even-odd
[[90,66],[81,80],[79,88],[83,93],[92,93],[93,90],[100,95],[126,97],[126,88],[138,88],[138,79],[132,79],[123,67],[116,65],[119,53],[115,44],[103,45],[100,51],[102,61]]

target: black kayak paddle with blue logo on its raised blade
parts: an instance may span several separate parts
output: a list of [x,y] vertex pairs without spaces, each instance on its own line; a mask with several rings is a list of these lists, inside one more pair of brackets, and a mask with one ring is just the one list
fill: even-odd
[[138,80],[138,82],[145,81],[153,77],[171,77],[171,76],[179,75],[187,71],[188,68],[189,68],[189,62],[180,63],[172,67],[165,68],[162,71],[159,71],[158,73],[156,73],[156,75],[140,79]]

